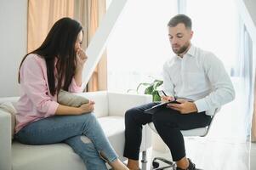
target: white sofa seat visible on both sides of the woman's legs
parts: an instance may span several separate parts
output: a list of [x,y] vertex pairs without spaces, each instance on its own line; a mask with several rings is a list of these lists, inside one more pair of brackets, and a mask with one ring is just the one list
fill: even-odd
[[[98,118],[105,135],[123,161],[124,118],[105,116]],[[82,159],[67,144],[28,145],[12,144],[13,170],[84,170]]]

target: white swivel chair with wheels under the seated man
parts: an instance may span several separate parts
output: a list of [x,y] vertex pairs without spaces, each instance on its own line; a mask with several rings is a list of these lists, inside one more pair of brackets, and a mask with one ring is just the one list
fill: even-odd
[[[219,111],[219,110],[216,110],[215,113],[217,111]],[[212,121],[210,122],[208,127],[200,127],[200,128],[193,128],[193,129],[190,129],[190,130],[182,130],[181,133],[183,134],[184,137],[191,137],[191,136],[204,137],[204,136],[206,136],[208,134],[209,130],[210,130],[210,127],[213,124],[214,116],[215,116],[215,114],[213,115]],[[153,130],[155,133],[157,133],[156,128],[155,128],[155,126],[152,122],[149,124],[149,127],[151,127],[151,130]],[[159,163],[157,162],[157,160],[167,163],[168,166],[159,167]],[[168,161],[167,159],[162,158],[162,157],[155,157],[152,161],[152,167],[153,167],[153,170],[162,170],[162,169],[167,169],[169,167],[174,168],[175,163],[174,163],[174,161]]]

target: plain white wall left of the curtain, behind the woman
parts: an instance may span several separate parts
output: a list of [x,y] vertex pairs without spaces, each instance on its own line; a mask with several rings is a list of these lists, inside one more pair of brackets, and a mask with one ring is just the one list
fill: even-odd
[[20,60],[26,54],[27,0],[0,0],[0,97],[19,95]]

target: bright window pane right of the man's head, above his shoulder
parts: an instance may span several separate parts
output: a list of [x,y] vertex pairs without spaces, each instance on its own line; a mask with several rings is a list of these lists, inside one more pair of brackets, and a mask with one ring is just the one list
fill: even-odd
[[[216,54],[230,73],[236,62],[239,16],[233,0],[186,1],[194,37],[192,43]],[[228,7],[228,8],[227,8]]]

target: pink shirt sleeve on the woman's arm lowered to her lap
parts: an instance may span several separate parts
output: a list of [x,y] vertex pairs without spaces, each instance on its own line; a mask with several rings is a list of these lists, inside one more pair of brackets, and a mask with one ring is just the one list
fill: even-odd
[[[24,60],[20,68],[20,85],[38,112],[44,116],[53,116],[59,104],[48,92],[48,82],[43,74],[43,63],[34,54]],[[45,66],[45,65],[44,65]]]

